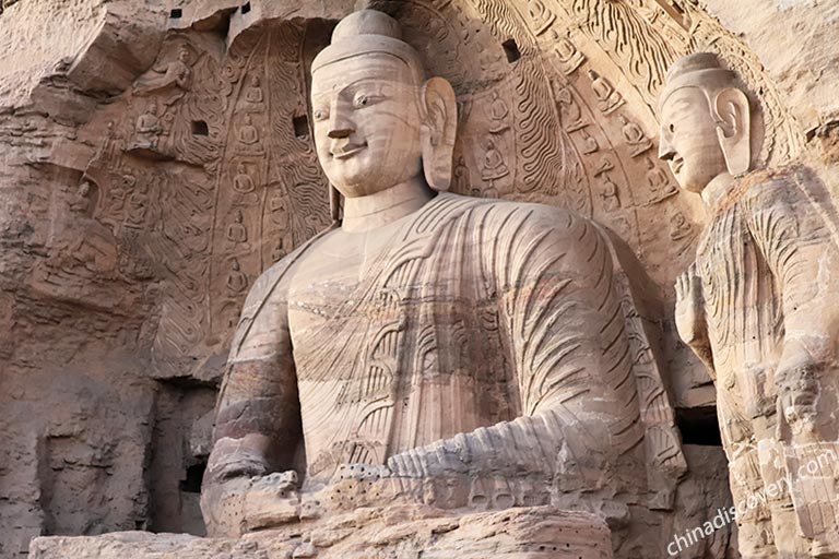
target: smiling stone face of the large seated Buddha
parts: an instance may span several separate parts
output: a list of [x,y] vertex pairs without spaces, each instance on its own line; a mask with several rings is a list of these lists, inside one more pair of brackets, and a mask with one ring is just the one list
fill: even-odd
[[318,159],[346,198],[374,194],[423,171],[418,85],[400,59],[358,55],[312,74]]

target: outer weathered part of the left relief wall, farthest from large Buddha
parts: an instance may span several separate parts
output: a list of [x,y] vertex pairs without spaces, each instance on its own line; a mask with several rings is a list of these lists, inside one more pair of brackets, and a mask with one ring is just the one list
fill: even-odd
[[188,37],[169,37],[155,67],[114,104],[121,117],[103,127],[85,170],[101,188],[94,217],[117,239],[117,272],[162,281],[157,323],[146,332],[163,368],[191,361],[206,324],[212,169],[224,127],[218,74],[217,60]]

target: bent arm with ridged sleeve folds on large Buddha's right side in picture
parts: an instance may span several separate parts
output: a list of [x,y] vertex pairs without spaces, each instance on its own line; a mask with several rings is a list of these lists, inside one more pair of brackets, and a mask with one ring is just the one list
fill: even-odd
[[[600,231],[579,217],[527,206],[492,243],[486,276],[497,278],[521,417],[395,455],[388,465],[397,475],[553,476],[571,463],[601,463],[635,432],[628,340]],[[626,435],[613,437],[616,416],[629,418],[621,426]]]

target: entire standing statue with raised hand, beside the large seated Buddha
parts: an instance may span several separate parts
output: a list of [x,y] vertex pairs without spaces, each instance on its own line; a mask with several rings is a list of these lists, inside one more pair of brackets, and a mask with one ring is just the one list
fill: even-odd
[[660,117],[659,156],[709,213],[696,262],[676,283],[676,325],[717,385],[741,554],[837,557],[839,248],[824,217],[829,195],[801,166],[753,170],[758,105],[711,53],[671,68]]

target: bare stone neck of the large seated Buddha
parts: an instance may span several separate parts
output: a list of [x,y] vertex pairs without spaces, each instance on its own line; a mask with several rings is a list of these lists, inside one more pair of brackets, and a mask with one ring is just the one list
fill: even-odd
[[421,175],[375,194],[346,198],[341,228],[347,233],[364,233],[382,227],[416,212],[434,194]]

